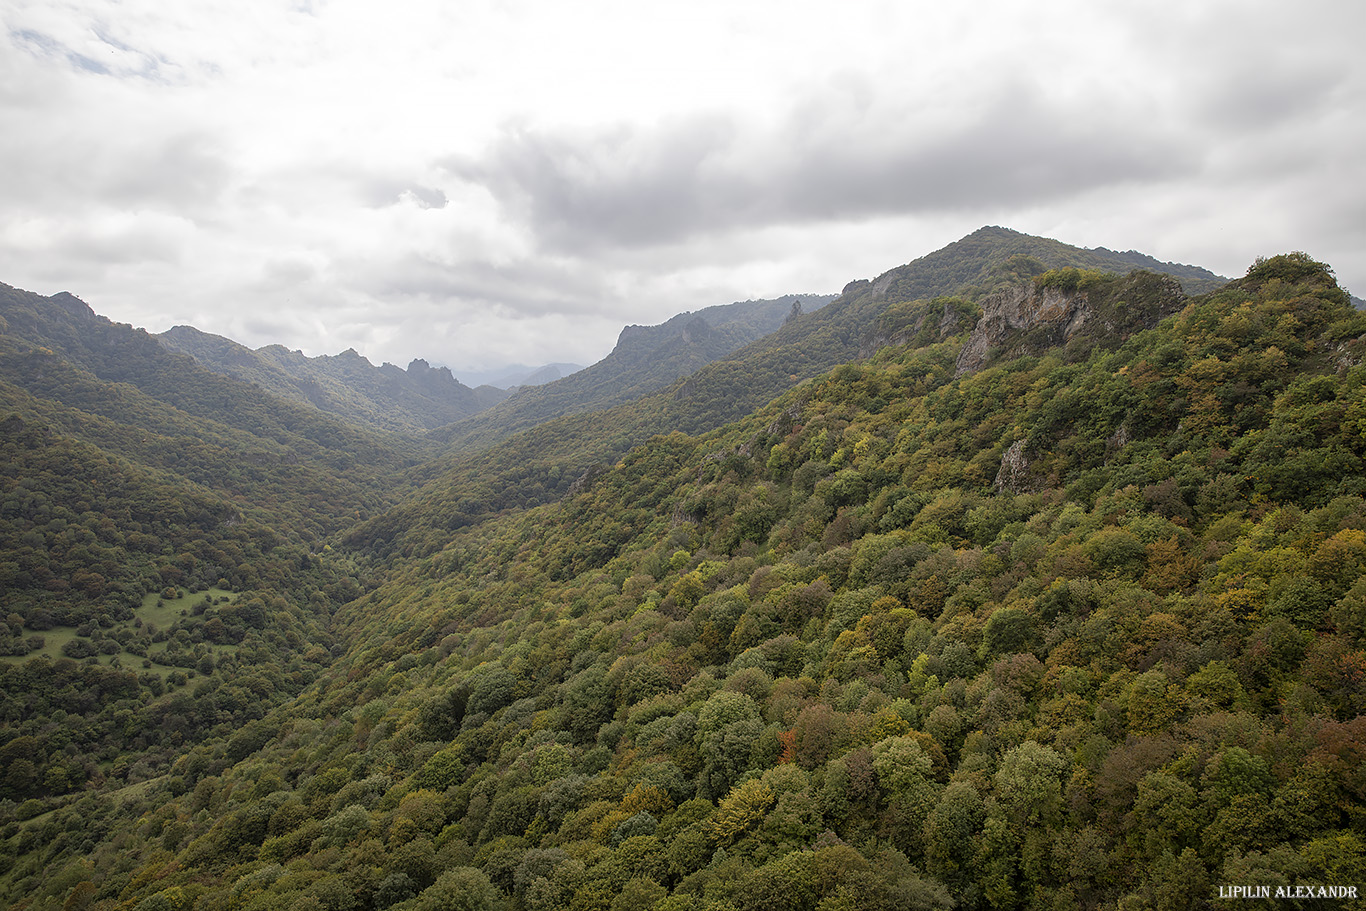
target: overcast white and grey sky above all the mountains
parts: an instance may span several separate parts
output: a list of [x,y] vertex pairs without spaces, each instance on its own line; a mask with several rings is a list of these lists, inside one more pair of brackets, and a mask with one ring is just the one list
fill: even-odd
[[1366,4],[0,0],[0,281],[462,369],[984,224],[1366,296]]

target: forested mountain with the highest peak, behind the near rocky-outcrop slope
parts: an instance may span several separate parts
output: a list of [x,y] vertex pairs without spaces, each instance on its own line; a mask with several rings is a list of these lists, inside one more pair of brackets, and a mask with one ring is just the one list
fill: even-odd
[[[440,546],[451,529],[559,499],[571,485],[613,464],[654,434],[712,430],[805,380],[904,340],[906,305],[953,295],[955,300],[937,317],[956,321],[956,329],[944,325],[945,335],[952,335],[977,318],[975,300],[1050,269],[1132,272],[1123,258],[1007,228],[981,228],[874,280],[848,283],[835,300],[814,313],[784,318],[776,331],[654,395],[605,411],[546,419],[510,436],[504,415],[531,423],[540,414],[519,411],[520,397],[514,396],[482,418],[436,432],[434,438],[452,443],[452,452],[423,468],[418,477],[425,485],[413,500],[358,526],[351,539],[378,549]],[[1177,269],[1187,275],[1202,272],[1193,266]],[[1139,310],[1150,311],[1146,305]],[[1131,320],[1126,324],[1135,325]],[[576,388],[593,376],[585,370]],[[556,385],[535,392],[552,396]]]

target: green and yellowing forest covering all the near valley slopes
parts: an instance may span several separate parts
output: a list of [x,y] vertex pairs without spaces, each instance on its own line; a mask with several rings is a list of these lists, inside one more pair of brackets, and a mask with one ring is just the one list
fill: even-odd
[[1366,895],[1366,314],[1193,275],[984,229],[475,449],[0,287],[0,901]]

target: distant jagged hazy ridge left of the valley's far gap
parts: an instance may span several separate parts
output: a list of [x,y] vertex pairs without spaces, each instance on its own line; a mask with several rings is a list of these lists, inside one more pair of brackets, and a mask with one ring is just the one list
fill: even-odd
[[253,351],[193,326],[173,326],[156,337],[214,373],[378,430],[421,433],[477,414],[505,396],[493,387],[470,389],[447,367],[422,359],[402,370],[392,363],[376,367],[355,350],[317,358],[277,344]]

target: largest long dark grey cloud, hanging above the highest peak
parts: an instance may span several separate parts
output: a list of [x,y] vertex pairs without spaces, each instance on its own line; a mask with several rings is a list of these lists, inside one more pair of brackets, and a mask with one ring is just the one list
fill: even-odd
[[736,117],[572,132],[508,128],[478,160],[448,160],[550,246],[667,244],[698,232],[1037,205],[1162,180],[1197,156],[1154,124],[1004,89],[971,113],[874,105],[858,90],[776,128]]

